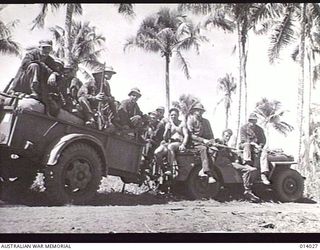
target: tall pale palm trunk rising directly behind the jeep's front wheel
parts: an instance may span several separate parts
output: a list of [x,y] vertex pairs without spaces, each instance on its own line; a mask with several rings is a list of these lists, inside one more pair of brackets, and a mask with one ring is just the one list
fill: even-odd
[[[304,67],[305,67],[305,26],[306,26],[306,3],[302,3],[301,40],[300,40],[300,81],[298,85],[298,121],[299,121],[299,144],[298,164],[302,170],[302,137],[303,137],[303,110],[304,110]],[[307,136],[307,135],[304,135]]]

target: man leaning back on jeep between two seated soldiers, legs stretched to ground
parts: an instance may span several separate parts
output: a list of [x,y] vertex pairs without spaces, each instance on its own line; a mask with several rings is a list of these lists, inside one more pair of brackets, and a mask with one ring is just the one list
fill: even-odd
[[231,165],[233,168],[239,170],[243,179],[244,197],[253,202],[260,201],[259,197],[257,197],[251,190],[257,169],[248,164],[240,164],[238,161],[238,155],[231,151],[230,148],[219,147],[219,144],[228,146],[228,142],[232,134],[231,129],[226,129],[222,132],[222,138],[215,140],[215,142],[218,143],[216,146],[219,148],[219,157],[217,157],[216,163],[222,166]]

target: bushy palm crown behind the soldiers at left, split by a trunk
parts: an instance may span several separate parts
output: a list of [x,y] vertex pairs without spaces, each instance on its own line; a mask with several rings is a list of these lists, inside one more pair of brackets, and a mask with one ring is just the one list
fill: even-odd
[[[50,28],[50,31],[53,33],[56,44],[55,56],[65,59],[65,30],[60,26],[55,26]],[[70,60],[75,68],[80,66],[80,71],[88,78],[86,68],[92,70],[102,66],[98,62],[98,57],[103,51],[101,47],[105,42],[105,37],[97,34],[96,27],[91,26],[89,22],[72,22],[70,31]]]

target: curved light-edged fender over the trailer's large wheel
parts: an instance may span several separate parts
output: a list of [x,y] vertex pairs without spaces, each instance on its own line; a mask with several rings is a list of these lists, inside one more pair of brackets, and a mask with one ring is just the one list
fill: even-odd
[[104,163],[104,167],[107,166],[107,157],[102,142],[94,136],[87,134],[68,134],[58,140],[55,140],[47,148],[47,154],[45,154],[43,159],[44,165],[56,165],[62,151],[74,142],[85,142],[91,145],[100,155],[102,162]]

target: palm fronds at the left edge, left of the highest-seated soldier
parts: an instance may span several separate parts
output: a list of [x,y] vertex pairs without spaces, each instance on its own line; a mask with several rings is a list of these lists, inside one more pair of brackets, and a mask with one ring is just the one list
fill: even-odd
[[[0,6],[0,11],[3,10],[6,5]],[[0,53],[8,55],[20,56],[20,46],[17,42],[12,40],[12,29],[19,23],[18,20],[14,20],[10,23],[4,23],[0,20]]]

